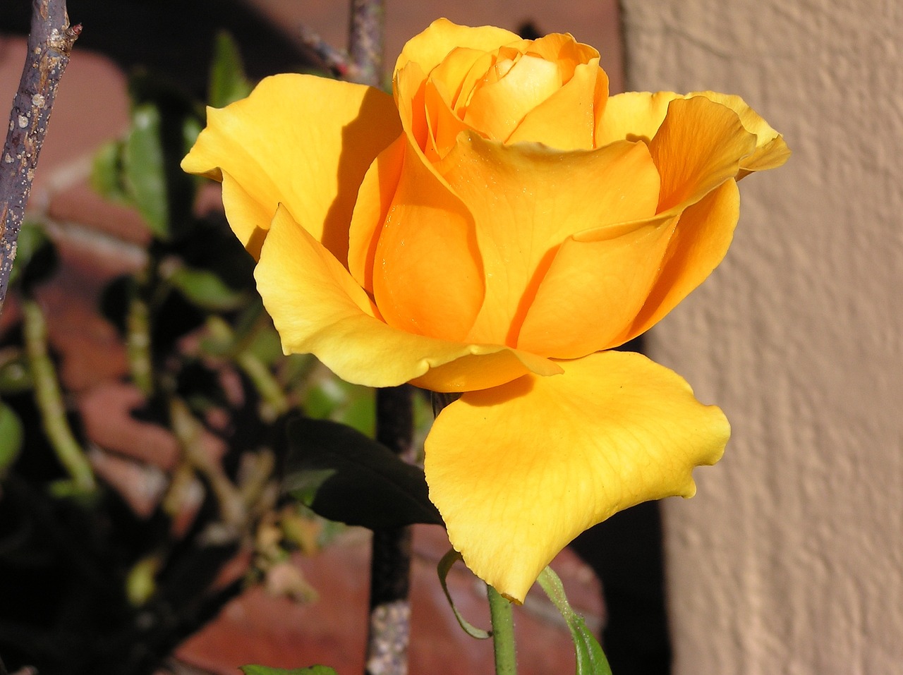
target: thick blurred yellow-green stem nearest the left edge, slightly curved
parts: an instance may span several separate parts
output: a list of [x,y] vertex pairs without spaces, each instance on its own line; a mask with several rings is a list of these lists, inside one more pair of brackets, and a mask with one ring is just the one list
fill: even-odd
[[34,398],[41,411],[44,433],[66,471],[77,493],[90,493],[96,488],[94,472],[66,420],[60,383],[47,350],[47,322],[41,306],[32,299],[22,303],[25,350],[32,369]]

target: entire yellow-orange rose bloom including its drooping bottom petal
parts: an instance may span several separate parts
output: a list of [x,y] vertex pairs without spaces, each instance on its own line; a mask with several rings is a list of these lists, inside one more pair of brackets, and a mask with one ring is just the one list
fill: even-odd
[[523,601],[569,541],[691,496],[730,435],[677,374],[611,351],[721,262],[737,180],[787,160],[739,97],[609,97],[599,52],[433,23],[394,96],[307,75],[209,109],[182,162],[222,182],[285,353],[462,393],[426,439],[465,563]]

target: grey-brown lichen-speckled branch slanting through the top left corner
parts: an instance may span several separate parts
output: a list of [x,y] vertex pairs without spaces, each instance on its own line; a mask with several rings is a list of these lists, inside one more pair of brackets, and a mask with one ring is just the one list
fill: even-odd
[[0,312],[53,100],[80,32],[69,24],[65,0],[33,0],[28,54],[0,155]]

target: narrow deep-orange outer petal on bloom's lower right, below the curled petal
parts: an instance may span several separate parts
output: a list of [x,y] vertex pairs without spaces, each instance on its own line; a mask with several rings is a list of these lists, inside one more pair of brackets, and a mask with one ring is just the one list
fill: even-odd
[[728,180],[686,208],[668,242],[656,285],[629,331],[616,344],[652,328],[721,263],[740,218],[740,191]]

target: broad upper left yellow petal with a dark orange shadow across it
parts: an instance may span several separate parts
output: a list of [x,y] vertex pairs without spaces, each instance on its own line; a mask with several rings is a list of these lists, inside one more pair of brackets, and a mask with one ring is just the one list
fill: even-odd
[[392,97],[375,88],[276,75],[251,95],[209,108],[182,169],[214,180],[231,176],[229,224],[255,257],[283,204],[343,264],[358,187],[370,162],[401,134]]

